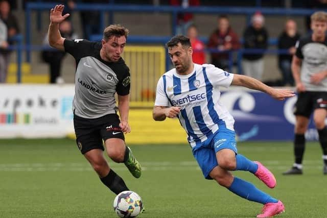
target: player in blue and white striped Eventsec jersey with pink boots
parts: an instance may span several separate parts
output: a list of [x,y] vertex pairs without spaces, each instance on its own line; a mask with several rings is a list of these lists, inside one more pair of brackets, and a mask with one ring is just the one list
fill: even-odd
[[188,141],[206,179],[214,179],[236,195],[264,204],[258,217],[271,217],[285,210],[281,201],[253,184],[234,177],[229,171],[249,171],[273,188],[273,174],[260,162],[238,154],[234,119],[220,103],[219,87],[239,85],[260,90],[278,100],[294,96],[293,91],[274,89],[243,75],[230,74],[211,64],[195,64],[189,38],[175,36],[168,43],[175,68],[158,81],[153,118],[177,117],[188,134]]

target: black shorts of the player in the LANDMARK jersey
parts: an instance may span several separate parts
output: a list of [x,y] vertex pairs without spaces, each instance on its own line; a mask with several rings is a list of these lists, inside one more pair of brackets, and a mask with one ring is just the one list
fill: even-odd
[[120,119],[117,114],[108,114],[99,118],[83,118],[74,114],[74,129],[77,147],[82,154],[92,150],[104,151],[103,141],[108,138],[121,138],[125,140]]

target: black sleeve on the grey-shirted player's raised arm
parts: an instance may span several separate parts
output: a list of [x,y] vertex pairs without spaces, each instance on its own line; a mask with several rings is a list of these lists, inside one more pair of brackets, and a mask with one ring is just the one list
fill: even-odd
[[94,43],[85,39],[65,39],[63,46],[65,52],[71,54],[76,60],[88,56],[94,50]]

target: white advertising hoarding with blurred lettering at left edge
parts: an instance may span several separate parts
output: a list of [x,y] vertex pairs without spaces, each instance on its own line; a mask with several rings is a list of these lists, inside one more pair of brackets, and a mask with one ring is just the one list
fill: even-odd
[[74,133],[71,85],[0,85],[0,138]]

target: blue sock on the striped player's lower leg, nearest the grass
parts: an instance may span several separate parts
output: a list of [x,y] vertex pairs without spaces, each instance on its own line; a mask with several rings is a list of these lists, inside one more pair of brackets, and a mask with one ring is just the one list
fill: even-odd
[[261,204],[278,202],[277,199],[274,199],[267,193],[259,190],[253,184],[237,177],[234,177],[234,180],[228,190],[249,201],[255,201]]

